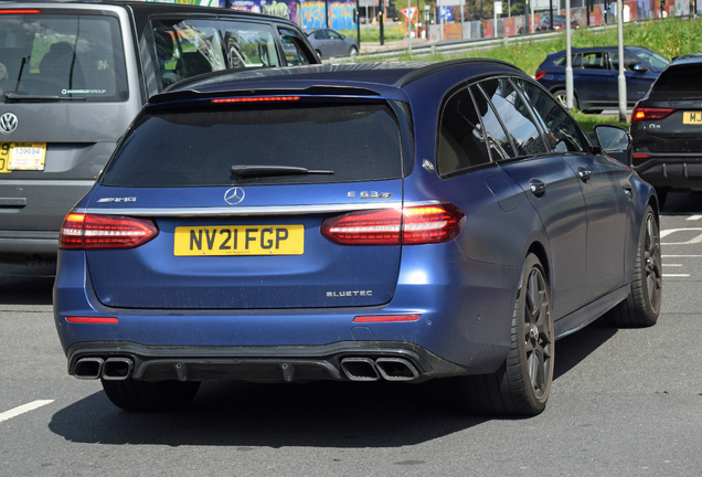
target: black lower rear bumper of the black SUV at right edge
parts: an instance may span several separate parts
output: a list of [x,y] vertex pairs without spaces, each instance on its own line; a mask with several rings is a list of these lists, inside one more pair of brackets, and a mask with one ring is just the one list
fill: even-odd
[[634,170],[651,186],[670,189],[702,188],[702,153],[646,153],[648,155],[646,161],[634,166]]

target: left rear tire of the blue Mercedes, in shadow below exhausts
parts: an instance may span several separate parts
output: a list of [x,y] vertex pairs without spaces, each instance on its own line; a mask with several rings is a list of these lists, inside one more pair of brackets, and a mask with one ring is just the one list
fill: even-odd
[[100,381],[113,404],[127,411],[180,411],[200,389],[200,381]]

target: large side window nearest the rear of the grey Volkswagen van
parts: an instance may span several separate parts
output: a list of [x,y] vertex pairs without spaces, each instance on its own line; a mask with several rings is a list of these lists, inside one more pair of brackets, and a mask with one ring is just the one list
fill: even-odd
[[226,68],[280,66],[273,29],[227,20],[153,20],[161,87]]

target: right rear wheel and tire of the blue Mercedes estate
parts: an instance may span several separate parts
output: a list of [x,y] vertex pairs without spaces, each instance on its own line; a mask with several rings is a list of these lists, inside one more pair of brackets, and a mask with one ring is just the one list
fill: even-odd
[[532,416],[546,406],[553,381],[551,293],[539,258],[530,254],[512,317],[511,349],[494,374],[460,378],[474,414]]

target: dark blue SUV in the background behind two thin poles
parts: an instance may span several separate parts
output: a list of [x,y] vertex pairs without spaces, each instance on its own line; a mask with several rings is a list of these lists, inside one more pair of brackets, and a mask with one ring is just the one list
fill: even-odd
[[[619,53],[617,46],[572,50],[574,107],[585,113],[600,113],[619,105]],[[646,95],[669,61],[641,46],[625,46],[624,75],[627,104]],[[536,68],[535,78],[565,105],[565,51],[550,53]]]

